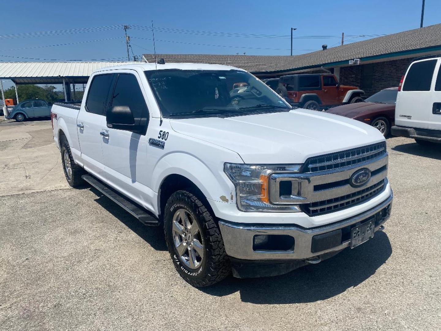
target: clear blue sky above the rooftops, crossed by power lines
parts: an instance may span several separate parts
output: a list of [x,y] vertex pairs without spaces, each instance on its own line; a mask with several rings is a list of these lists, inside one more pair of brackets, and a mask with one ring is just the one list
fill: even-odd
[[[250,38],[249,35],[289,36],[290,28],[295,27],[297,30],[294,36],[300,38],[293,41],[293,53],[301,54],[321,49],[322,44],[329,47],[339,45],[342,32],[347,36],[381,35],[418,28],[421,4],[422,0],[15,0],[9,1],[7,12],[2,13],[1,35],[100,26],[112,26],[112,29],[71,34],[50,33],[31,37],[28,35],[27,38],[2,37],[0,61],[123,60],[127,51],[124,31],[122,26],[116,26],[118,24],[134,26],[128,30],[128,34],[132,38],[131,45],[135,55],[152,53],[153,42],[149,40],[152,34],[148,28],[152,20],[157,29],[157,53],[245,52],[247,55],[289,55],[289,37]],[[441,1],[426,0],[424,26],[441,23],[440,12]],[[181,33],[176,33],[176,30],[180,30]],[[188,30],[217,32],[223,35]],[[345,39],[349,38],[351,39],[346,43],[366,39]]]

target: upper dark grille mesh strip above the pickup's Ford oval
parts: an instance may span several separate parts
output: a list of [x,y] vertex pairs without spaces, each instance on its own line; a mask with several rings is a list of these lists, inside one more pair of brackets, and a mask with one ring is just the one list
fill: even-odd
[[303,173],[315,173],[355,165],[378,158],[386,154],[386,143],[344,150],[342,152],[316,156],[306,160],[303,165]]

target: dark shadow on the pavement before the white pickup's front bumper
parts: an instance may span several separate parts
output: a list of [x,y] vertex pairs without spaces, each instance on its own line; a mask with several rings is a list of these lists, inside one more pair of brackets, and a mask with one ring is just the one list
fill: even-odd
[[219,297],[239,291],[243,302],[262,305],[326,300],[374,275],[391,254],[389,238],[379,231],[373,239],[359,247],[346,248],[328,260],[286,275],[250,279],[230,277],[201,290]]

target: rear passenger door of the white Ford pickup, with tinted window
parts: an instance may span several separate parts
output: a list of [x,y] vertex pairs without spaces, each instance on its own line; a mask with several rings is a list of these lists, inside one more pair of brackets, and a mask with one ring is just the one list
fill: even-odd
[[113,74],[93,76],[86,91],[86,102],[81,106],[77,118],[78,140],[84,168],[103,181],[105,166],[101,144],[105,138],[101,135],[101,129],[106,125],[105,110],[114,77]]

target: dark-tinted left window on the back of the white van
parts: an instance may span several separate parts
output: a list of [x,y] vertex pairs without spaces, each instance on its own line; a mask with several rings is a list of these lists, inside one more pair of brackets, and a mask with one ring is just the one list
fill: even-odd
[[429,91],[437,60],[415,62],[407,71],[403,91]]

